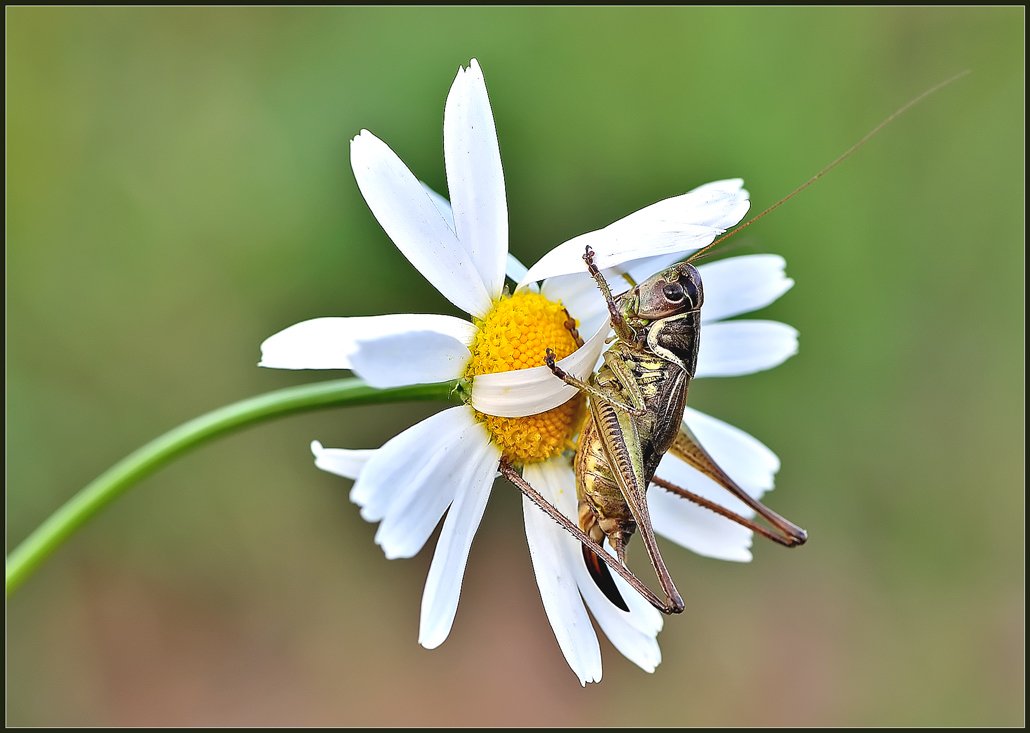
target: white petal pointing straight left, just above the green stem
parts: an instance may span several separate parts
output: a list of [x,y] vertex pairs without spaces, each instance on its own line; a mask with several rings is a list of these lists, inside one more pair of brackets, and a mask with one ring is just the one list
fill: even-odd
[[259,365],[349,369],[376,387],[427,384],[460,376],[475,335],[469,321],[427,313],[313,318],[266,339]]

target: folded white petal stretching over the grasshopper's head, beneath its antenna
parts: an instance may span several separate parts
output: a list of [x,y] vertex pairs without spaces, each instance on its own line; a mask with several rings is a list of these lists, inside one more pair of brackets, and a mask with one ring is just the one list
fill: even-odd
[[583,270],[587,245],[602,270],[642,257],[688,254],[735,224],[750,202],[744,181],[715,181],[659,201],[609,224],[560,244],[529,268],[520,284]]

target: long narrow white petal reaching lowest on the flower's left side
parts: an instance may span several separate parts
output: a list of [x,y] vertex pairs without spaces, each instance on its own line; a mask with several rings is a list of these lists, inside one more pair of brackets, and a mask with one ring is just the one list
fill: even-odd
[[418,643],[425,649],[442,644],[454,623],[472,539],[483,518],[501,459],[501,451],[492,443],[490,447],[492,450],[478,461],[468,481],[457,487],[454,502],[440,531],[422,592]]

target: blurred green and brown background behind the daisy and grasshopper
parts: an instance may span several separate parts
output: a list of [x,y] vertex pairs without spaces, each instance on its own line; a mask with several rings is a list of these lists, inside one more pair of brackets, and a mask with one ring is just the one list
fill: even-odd
[[691,404],[778,452],[769,502],[812,540],[749,565],[666,546],[687,612],[654,675],[605,640],[580,689],[503,484],[450,638],[417,645],[431,554],[385,560],[308,452],[437,409],[400,405],[252,428],[111,505],[8,601],[8,723],[1023,722],[1023,8],[5,14],[8,549],[165,429],[331,376],[258,369],[278,329],[455,312],[347,141],[372,130],[445,190],[471,57],[527,263],[716,178],[757,211],[972,70],[736,240],[787,258],[762,317],[801,350]]

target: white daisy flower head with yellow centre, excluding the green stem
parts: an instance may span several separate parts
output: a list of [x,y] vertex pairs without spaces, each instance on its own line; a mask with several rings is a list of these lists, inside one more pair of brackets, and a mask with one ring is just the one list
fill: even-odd
[[[277,369],[352,370],[377,387],[454,379],[471,384],[466,405],[433,415],[379,449],[312,444],[319,468],[355,480],[350,498],[364,519],[379,522],[375,542],[387,557],[418,553],[443,519],[422,596],[418,640],[428,649],[442,643],[450,631],[472,540],[502,459],[521,466],[524,478],[545,497],[574,521],[577,517],[566,448],[585,414],[584,399],[541,364],[551,348],[562,369],[586,378],[604,348],[608,314],[585,274],[585,246],[594,248],[610,277],[646,276],[662,263],[714,241],[737,223],[749,206],[740,179],[710,183],[570,240],[527,271],[508,253],[501,155],[475,60],[458,70],[447,97],[444,160],[449,202],[420,184],[368,131],[351,141],[351,165],[369,208],[412,265],[471,320],[432,314],[316,318],[266,340],[261,361],[262,367]],[[705,337],[712,344],[702,340],[699,373],[765,369],[796,348],[793,330],[782,324],[715,322],[761,307],[790,286],[780,258],[757,256],[705,266],[714,279],[722,278],[722,285],[714,288],[722,290],[722,296],[708,294],[706,281],[707,298],[716,305],[705,306],[710,309],[706,315],[714,317]],[[512,294],[505,287],[506,272],[518,283]],[[538,288],[535,283],[541,280]],[[579,331],[589,335],[585,343]],[[771,351],[770,345],[776,347]],[[756,347],[765,349],[764,358],[752,353]],[[690,411],[687,419],[744,488],[756,493],[771,488],[778,462],[768,449],[700,413]],[[737,460],[749,463],[737,467]],[[680,464],[665,474],[703,493],[696,488],[702,483],[696,480],[699,474],[685,479],[692,470]],[[715,489],[711,493],[717,495]],[[660,497],[650,502],[655,511],[666,512]],[[675,502],[684,507],[668,510],[667,521],[654,517],[656,529],[661,524],[667,536],[701,554],[749,557],[750,532],[682,499]],[[618,577],[615,582],[629,612],[612,605],[587,574],[577,540],[528,499],[523,507],[544,607],[580,682],[600,679],[599,647],[588,609],[623,655],[653,671],[660,662],[656,636],[661,615]]]

